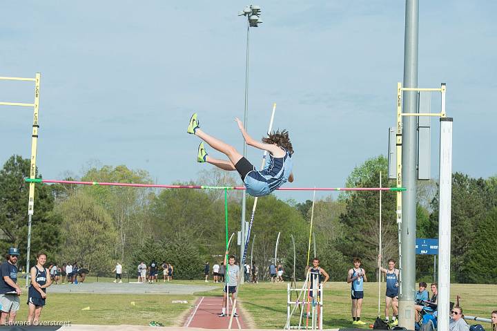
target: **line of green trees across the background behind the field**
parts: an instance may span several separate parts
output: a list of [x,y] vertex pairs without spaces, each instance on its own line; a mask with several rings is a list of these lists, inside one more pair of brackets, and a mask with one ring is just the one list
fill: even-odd
[[[28,187],[30,160],[12,155],[0,170],[0,249],[21,249],[20,265],[26,263]],[[387,179],[384,156],[370,158],[355,167],[347,187],[393,187]],[[41,174],[37,173],[41,178]],[[66,178],[72,180],[72,178]],[[95,182],[151,183],[143,170],[93,167],[79,178]],[[212,186],[234,186],[230,173],[202,171],[197,182]],[[193,185],[193,182],[177,183]],[[228,231],[240,230],[241,193],[228,192]],[[377,191],[341,193],[315,201],[313,234],[316,254],[331,281],[344,281],[351,260],[360,256],[369,278],[375,279],[379,245],[379,199]],[[438,186],[419,182],[417,194],[418,238],[438,236]],[[248,197],[246,214],[253,198]],[[292,274],[295,240],[297,278],[304,278],[312,201],[280,200],[271,194],[260,198],[252,231],[253,256],[264,270],[274,260],[275,240],[281,232],[278,259],[286,275]],[[384,258],[398,256],[396,196],[382,193],[382,243]],[[226,249],[224,192],[195,189],[148,189],[37,184],[32,218],[32,256],[43,251],[56,263],[77,261],[93,274],[110,275],[116,262],[131,276],[141,261],[156,259],[175,266],[176,278],[202,277],[204,262],[222,261]],[[497,177],[471,178],[453,174],[452,185],[452,281],[496,283],[497,265],[491,263],[497,247]],[[249,247],[250,248],[250,247]],[[231,246],[238,255],[239,247]],[[313,247],[311,247],[313,255]],[[416,257],[419,280],[431,281],[431,256]],[[34,262],[34,261],[31,261]]]

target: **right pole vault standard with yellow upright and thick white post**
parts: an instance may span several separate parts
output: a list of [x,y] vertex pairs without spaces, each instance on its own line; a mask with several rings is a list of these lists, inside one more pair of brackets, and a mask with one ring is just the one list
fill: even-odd
[[[397,83],[397,187],[402,187],[402,116],[436,116],[440,117],[440,169],[439,169],[439,211],[438,211],[438,240],[439,259],[438,263],[438,329],[449,329],[449,294],[450,294],[450,251],[451,251],[451,190],[452,190],[452,118],[447,117],[445,112],[445,83],[440,88],[403,88],[402,83]],[[405,91],[428,91],[440,92],[440,113],[402,113],[402,95]],[[397,192],[397,223],[399,236],[399,322],[400,326],[412,328],[407,325],[412,320],[413,303],[411,293],[413,288],[404,298],[402,295],[402,274],[404,263],[402,263],[402,193]],[[416,229],[416,227],[414,227]],[[414,231],[416,234],[416,231]],[[415,236],[416,237],[416,236]],[[407,244],[407,243],[405,243]],[[413,258],[406,269],[414,272],[416,265]],[[409,282],[410,283],[410,282]],[[409,284],[407,284],[409,285]],[[411,286],[410,286],[411,287]],[[413,286],[412,286],[413,287]]]

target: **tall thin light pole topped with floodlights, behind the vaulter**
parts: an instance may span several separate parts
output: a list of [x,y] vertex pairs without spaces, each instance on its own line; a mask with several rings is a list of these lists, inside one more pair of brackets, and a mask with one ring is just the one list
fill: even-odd
[[[245,60],[245,108],[244,108],[244,128],[247,129],[247,110],[249,108],[249,36],[250,28],[257,28],[260,20],[261,9],[260,6],[250,5],[246,6],[242,12],[238,13],[238,16],[245,16],[247,18],[247,44],[246,44],[246,60]],[[246,157],[246,143],[244,140],[244,157]],[[240,230],[240,258],[243,257],[245,249],[245,209],[246,209],[246,193],[245,190],[242,193],[242,227]],[[240,269],[244,267],[242,261],[240,261]],[[244,283],[244,278],[241,278],[241,284]]]

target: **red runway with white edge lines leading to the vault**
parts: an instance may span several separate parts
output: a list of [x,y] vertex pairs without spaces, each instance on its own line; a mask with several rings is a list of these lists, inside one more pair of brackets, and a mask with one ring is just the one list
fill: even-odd
[[[204,329],[227,329],[229,324],[229,316],[219,317],[222,310],[222,297],[218,296],[202,296],[195,302],[195,308],[191,312],[188,319],[184,323],[186,328],[204,328]],[[230,305],[231,313],[231,305]],[[232,329],[246,329],[240,310],[237,309],[240,317],[233,319]]]

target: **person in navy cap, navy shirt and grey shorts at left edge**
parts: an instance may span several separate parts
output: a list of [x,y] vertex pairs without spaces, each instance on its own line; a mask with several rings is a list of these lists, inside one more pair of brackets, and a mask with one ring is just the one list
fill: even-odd
[[0,265],[0,325],[12,324],[19,310],[21,287],[17,285],[17,260],[19,249],[10,248],[6,262]]

